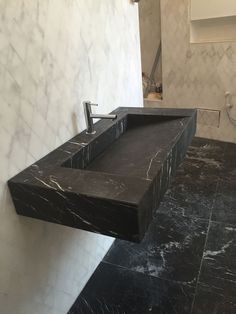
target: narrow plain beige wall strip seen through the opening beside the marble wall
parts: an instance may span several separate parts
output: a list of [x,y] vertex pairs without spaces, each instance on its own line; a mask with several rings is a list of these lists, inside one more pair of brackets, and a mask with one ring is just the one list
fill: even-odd
[[[149,76],[161,40],[160,0],[140,1],[139,19],[142,71]],[[156,79],[161,80],[161,62],[156,72]]]

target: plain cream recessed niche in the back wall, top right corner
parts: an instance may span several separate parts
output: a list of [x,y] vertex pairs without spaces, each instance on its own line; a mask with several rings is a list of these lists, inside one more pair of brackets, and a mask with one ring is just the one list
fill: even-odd
[[190,42],[236,41],[235,0],[191,0]]

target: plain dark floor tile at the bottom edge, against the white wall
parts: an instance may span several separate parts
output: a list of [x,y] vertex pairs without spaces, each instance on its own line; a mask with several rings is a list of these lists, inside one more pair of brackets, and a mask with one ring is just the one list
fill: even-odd
[[189,314],[194,288],[101,263],[69,314]]

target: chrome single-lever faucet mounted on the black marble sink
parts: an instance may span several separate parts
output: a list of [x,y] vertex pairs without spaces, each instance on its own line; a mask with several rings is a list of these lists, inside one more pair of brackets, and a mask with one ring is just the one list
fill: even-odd
[[93,124],[93,119],[116,119],[117,115],[116,114],[93,114],[91,106],[98,106],[98,104],[92,104],[90,101],[84,101],[84,115],[85,115],[85,121],[86,121],[86,126],[87,134],[95,134],[96,131],[94,130],[94,124]]

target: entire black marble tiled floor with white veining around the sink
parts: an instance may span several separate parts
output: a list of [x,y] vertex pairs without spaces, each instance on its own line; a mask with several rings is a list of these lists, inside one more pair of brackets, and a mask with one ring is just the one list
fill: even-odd
[[236,145],[195,138],[141,244],[116,240],[69,314],[236,313]]

